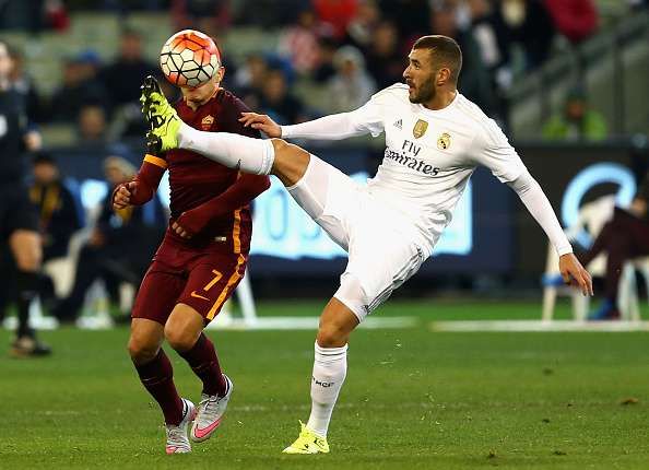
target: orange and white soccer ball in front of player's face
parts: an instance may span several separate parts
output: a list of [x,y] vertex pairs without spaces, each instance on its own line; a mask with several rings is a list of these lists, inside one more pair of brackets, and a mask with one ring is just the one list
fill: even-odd
[[173,84],[194,87],[214,77],[221,55],[210,36],[185,30],[167,39],[160,52],[160,67]]

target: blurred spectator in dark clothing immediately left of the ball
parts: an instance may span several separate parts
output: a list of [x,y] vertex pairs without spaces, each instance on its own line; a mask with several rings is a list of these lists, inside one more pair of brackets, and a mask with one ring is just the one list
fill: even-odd
[[117,58],[101,72],[111,105],[132,105],[140,108],[140,85],[146,75],[156,70],[157,66],[144,59],[140,33],[134,30],[122,31]]

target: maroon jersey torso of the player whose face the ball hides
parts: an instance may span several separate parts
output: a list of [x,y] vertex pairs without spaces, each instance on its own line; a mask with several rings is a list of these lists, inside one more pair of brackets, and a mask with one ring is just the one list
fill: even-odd
[[[238,118],[246,105],[228,91],[220,89],[197,110],[185,101],[175,105],[187,125],[203,131],[232,132],[259,138],[259,131],[244,127]],[[174,149],[165,155],[169,171],[172,221],[225,192],[239,178],[239,172],[213,162],[196,152]],[[205,227],[189,240],[169,230],[167,236],[182,245],[200,248],[214,240],[226,240],[235,252],[247,252],[252,235],[250,207],[210,218]]]

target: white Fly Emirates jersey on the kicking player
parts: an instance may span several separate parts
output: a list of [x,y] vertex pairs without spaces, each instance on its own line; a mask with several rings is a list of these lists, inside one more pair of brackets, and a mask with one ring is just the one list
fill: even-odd
[[496,122],[460,93],[444,109],[430,110],[412,104],[408,85],[398,83],[350,117],[357,131],[385,131],[384,160],[368,191],[404,213],[430,251],[477,165],[503,183],[526,172]]

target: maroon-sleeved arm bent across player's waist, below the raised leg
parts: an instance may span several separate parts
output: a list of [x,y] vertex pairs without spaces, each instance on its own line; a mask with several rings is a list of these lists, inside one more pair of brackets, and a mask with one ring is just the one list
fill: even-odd
[[257,196],[270,187],[266,175],[239,174],[236,180],[223,193],[197,205],[182,214],[172,224],[172,230],[184,238],[191,238],[201,232],[210,221],[247,205]]

